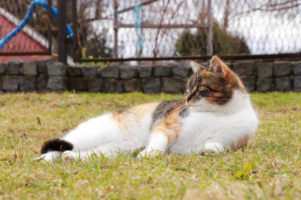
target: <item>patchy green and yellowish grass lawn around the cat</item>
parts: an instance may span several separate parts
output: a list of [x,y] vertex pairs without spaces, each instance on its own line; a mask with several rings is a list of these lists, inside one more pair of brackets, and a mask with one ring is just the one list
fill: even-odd
[[223,155],[45,163],[42,142],[106,110],[181,94],[0,94],[0,199],[300,199],[301,93],[251,94],[260,127]]

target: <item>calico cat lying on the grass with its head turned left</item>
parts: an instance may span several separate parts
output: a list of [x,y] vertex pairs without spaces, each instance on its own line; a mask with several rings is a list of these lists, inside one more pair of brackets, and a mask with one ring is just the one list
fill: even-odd
[[62,138],[46,141],[41,157],[68,160],[135,149],[144,157],[245,146],[256,130],[257,116],[242,81],[217,56],[209,68],[193,61],[191,67],[186,100],[145,103],[89,119]]

